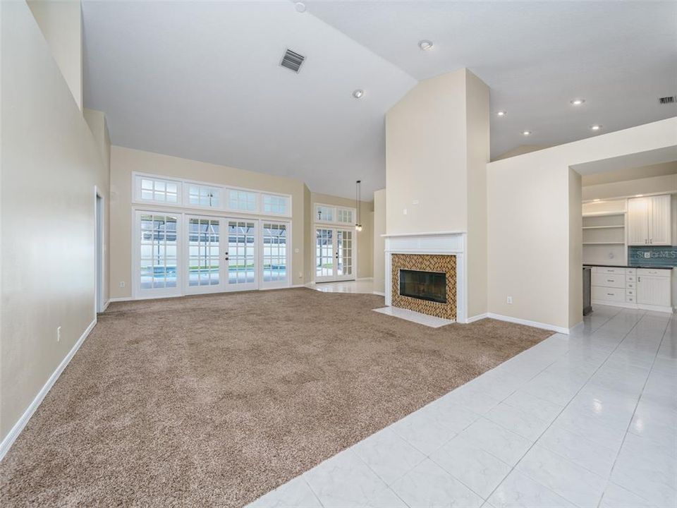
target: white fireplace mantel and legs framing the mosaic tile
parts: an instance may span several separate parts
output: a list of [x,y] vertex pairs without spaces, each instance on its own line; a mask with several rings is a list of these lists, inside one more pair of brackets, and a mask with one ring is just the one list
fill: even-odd
[[456,255],[456,321],[468,322],[466,295],[468,294],[465,263],[465,231],[437,231],[432,233],[384,234],[386,306],[392,305],[392,255],[442,254]]

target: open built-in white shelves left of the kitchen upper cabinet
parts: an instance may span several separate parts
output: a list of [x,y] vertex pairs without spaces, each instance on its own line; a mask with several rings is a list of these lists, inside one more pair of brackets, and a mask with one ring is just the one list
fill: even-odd
[[[594,203],[597,205],[597,203]],[[586,209],[587,208],[587,209]],[[583,207],[583,262],[626,265],[625,202],[606,202],[604,207]]]

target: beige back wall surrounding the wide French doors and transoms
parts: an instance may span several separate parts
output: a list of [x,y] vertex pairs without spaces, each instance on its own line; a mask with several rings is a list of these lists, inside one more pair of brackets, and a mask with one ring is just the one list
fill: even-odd
[[[132,296],[131,228],[134,171],[290,194],[293,215],[291,284],[305,282],[303,275],[305,186],[302,181],[114,145],[111,148],[111,298]],[[152,205],[146,205],[146,208],[148,207],[152,209]],[[121,287],[121,282],[124,282],[124,287]]]

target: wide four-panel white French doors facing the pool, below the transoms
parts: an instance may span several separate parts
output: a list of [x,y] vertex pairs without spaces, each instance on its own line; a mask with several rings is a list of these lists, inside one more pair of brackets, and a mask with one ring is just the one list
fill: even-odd
[[287,287],[288,222],[135,212],[135,296]]

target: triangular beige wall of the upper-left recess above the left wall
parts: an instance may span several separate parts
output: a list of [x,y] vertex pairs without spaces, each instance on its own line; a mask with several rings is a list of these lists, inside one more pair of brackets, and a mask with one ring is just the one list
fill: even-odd
[[42,35],[83,109],[83,18],[80,0],[28,0]]

